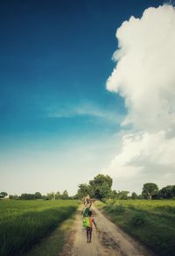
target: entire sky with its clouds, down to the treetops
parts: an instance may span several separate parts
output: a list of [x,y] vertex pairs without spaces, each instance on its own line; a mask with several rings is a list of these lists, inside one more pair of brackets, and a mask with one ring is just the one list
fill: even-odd
[[172,4],[4,1],[0,32],[1,191],[173,183]]

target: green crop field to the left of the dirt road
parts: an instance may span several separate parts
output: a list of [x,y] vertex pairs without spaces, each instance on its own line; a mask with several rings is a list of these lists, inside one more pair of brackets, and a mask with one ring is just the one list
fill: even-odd
[[0,255],[20,255],[77,209],[77,201],[0,200]]

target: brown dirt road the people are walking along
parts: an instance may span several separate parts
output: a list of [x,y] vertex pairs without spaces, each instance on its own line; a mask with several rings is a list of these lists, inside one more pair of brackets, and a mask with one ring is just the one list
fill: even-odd
[[78,211],[73,230],[67,238],[61,255],[72,256],[150,256],[152,255],[143,245],[121,231],[95,206],[92,207],[98,231],[93,231],[92,243],[88,244],[86,229],[82,227],[82,212]]

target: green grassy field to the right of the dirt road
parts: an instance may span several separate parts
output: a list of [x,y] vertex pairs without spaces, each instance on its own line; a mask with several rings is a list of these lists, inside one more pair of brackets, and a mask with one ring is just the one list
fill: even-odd
[[175,255],[175,201],[121,200],[97,207],[153,252]]

